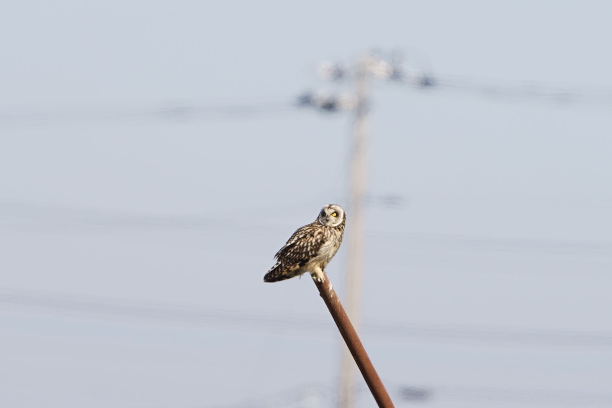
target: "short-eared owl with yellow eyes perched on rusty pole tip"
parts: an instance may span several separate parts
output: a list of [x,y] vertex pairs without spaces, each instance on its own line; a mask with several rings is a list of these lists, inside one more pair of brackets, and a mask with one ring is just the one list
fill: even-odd
[[340,248],[345,225],[342,207],[323,206],[315,222],[297,229],[275,254],[277,262],[264,276],[264,282],[282,281],[305,272],[323,281],[323,270]]

